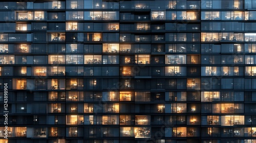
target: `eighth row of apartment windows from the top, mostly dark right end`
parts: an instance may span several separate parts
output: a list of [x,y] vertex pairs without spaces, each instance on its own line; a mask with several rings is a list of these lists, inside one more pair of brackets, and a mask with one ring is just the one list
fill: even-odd
[[[139,77],[136,79],[126,78],[5,78],[1,83],[8,83],[10,89],[29,89],[29,90],[108,90],[108,89],[256,89],[255,78],[224,78],[224,77],[204,77],[201,78],[156,78],[145,79]],[[1,85],[3,88],[3,85]]]

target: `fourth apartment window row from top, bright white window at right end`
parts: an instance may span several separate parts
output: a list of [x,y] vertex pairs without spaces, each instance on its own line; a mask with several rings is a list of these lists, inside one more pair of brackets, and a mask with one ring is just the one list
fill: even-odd
[[[200,39],[201,37],[201,39]],[[59,32],[59,33],[5,33],[0,34],[0,42],[254,42],[255,33],[160,33],[156,35],[135,33],[83,33],[83,32]],[[72,51],[68,51],[73,53]],[[108,50],[108,46],[102,52],[117,53],[118,49]],[[135,52],[135,51],[134,51]],[[157,52],[157,51],[155,51]],[[160,51],[161,52],[161,51]],[[169,51],[170,52],[170,51]],[[23,53],[26,53],[24,51]],[[74,53],[76,53],[74,51]]]

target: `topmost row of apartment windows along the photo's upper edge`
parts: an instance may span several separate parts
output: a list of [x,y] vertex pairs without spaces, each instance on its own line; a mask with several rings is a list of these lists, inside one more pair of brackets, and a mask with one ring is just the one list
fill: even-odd
[[232,1],[77,1],[66,2],[2,2],[1,9],[250,9],[254,8],[252,0]]

